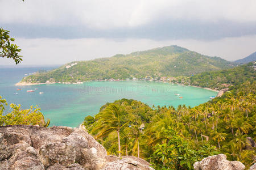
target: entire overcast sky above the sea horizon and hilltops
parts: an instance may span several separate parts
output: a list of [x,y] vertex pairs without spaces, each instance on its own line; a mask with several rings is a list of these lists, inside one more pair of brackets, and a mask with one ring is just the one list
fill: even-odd
[[168,45],[229,61],[256,51],[254,0],[0,0],[0,7],[0,27],[9,29],[22,48],[22,65]]

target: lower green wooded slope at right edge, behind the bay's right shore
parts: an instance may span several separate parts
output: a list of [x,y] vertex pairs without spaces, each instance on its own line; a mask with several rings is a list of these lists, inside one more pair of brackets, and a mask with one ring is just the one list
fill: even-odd
[[190,84],[200,87],[221,90],[230,86],[237,86],[243,82],[256,80],[256,65],[253,62],[219,71],[209,71],[190,77]]

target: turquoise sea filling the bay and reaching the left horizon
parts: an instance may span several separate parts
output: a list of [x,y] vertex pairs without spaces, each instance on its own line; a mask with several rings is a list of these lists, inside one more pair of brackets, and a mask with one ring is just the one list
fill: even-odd
[[[100,107],[107,102],[127,98],[140,100],[148,105],[185,104],[194,107],[216,96],[217,92],[203,88],[172,85],[170,83],[120,81],[120,82],[85,82],[84,84],[41,84],[23,86],[22,90],[14,86],[24,74],[52,67],[1,68],[0,95],[7,102],[20,104],[23,109],[38,105],[45,118],[51,119],[51,126],[76,127],[84,117],[97,114]],[[38,88],[38,90],[35,90]],[[28,93],[27,90],[35,90]],[[44,92],[44,94],[39,94]],[[18,93],[14,95],[14,93]],[[180,94],[176,96],[175,94]],[[5,112],[8,112],[7,108]]]

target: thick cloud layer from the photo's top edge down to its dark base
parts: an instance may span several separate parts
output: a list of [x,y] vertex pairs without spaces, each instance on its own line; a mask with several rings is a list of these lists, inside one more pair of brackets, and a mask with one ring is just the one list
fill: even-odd
[[[256,34],[256,1],[0,1],[14,36],[214,40]],[[14,12],[10,12],[14,11]]]

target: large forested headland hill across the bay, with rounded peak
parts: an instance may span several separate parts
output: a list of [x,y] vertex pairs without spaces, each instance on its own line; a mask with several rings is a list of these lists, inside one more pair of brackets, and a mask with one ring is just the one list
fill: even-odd
[[233,67],[219,57],[204,56],[180,46],[165,46],[110,58],[71,62],[47,73],[37,73],[22,82],[79,82],[100,79],[142,79],[145,76],[190,76]]

